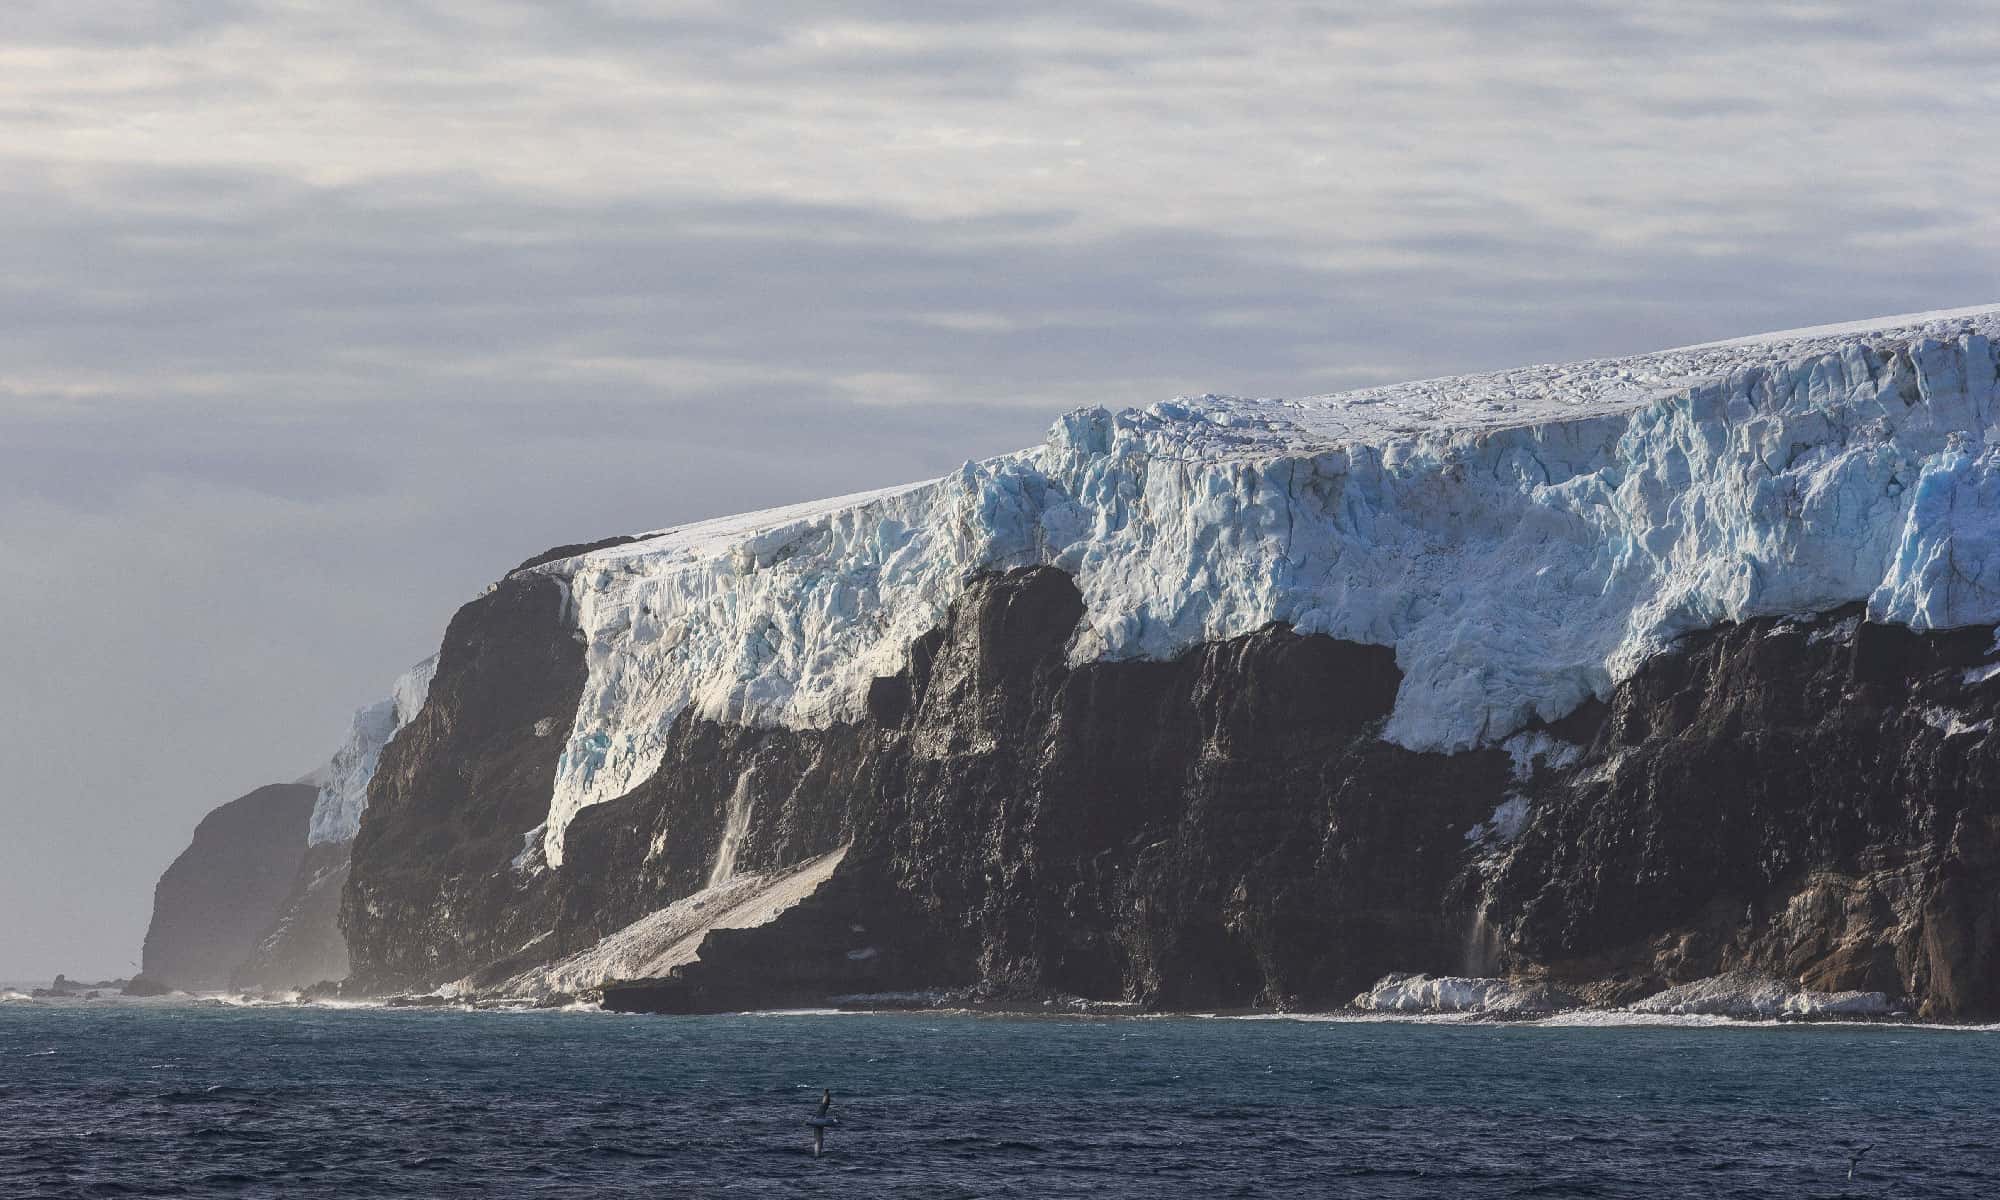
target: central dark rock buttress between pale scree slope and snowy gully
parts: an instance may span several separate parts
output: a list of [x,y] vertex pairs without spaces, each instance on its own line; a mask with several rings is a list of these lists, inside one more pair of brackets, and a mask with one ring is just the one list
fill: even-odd
[[1334,1004],[1456,944],[1436,894],[1506,760],[1380,742],[1386,648],[1272,626],[1072,668],[1080,618],[1058,570],[988,576],[874,690],[896,754],[848,864],[912,900],[958,976],[1022,998]]

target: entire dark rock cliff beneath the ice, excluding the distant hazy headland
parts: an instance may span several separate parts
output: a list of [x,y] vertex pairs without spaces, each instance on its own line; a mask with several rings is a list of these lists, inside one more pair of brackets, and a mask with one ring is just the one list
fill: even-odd
[[[1394,654],[1272,626],[1172,662],[1068,666],[1058,570],[974,580],[868,716],[682,714],[660,770],[540,826],[582,650],[546,580],[452,622],[384,754],[344,922],[356,980],[498,980],[736,870],[848,846],[808,904],[716,930],[628,1008],[960,986],[1152,1008],[1336,1006],[1390,970],[1510,970],[1636,996],[1774,970],[2000,1008],[2000,680],[1990,634],[1852,612],[1688,638],[1516,756],[1380,740]],[[1540,750],[1540,754],[1534,754]],[[1510,816],[1508,816],[1510,814]],[[484,970],[482,970],[484,968]]]

